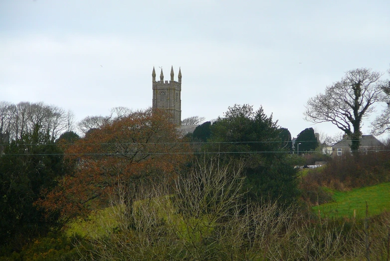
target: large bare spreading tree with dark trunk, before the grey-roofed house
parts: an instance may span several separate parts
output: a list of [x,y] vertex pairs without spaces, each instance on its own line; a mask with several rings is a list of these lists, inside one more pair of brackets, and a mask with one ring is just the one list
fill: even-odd
[[385,101],[382,73],[359,68],[326,87],[325,93],[310,98],[304,112],[305,120],[313,123],[332,122],[352,140],[351,150],[360,146],[362,121]]

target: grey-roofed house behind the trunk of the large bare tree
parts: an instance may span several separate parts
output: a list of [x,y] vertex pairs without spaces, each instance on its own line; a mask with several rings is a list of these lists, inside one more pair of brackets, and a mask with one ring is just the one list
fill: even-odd
[[[383,145],[382,142],[380,142],[373,135],[362,135],[362,139],[360,142],[361,143],[360,143],[359,150],[366,151],[366,152],[368,150],[378,149]],[[351,144],[352,144],[352,140],[348,136],[345,136],[341,141],[332,145],[332,157],[342,156],[345,153],[350,154]]]

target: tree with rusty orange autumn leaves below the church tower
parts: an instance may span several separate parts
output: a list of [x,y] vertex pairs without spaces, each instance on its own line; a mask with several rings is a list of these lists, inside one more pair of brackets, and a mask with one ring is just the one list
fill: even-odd
[[72,170],[40,205],[72,218],[107,206],[119,186],[131,205],[137,190],[172,178],[188,148],[168,116],[150,108],[132,112],[70,144],[65,160]]

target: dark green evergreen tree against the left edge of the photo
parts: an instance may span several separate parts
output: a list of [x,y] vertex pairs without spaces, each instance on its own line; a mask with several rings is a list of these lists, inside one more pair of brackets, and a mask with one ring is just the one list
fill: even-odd
[[35,125],[32,132],[11,141],[0,156],[0,238],[15,250],[25,240],[44,235],[56,225],[36,203],[64,172],[62,152]]

